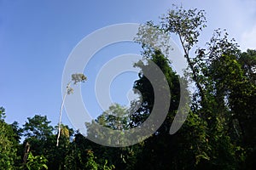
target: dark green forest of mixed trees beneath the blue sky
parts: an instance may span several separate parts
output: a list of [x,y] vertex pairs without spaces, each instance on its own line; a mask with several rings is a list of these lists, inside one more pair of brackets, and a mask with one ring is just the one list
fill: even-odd
[[[152,36],[148,26],[177,37],[188,65],[186,77],[177,75],[164,51],[146,43],[145,38]],[[205,46],[198,47],[201,31],[206,26],[204,10],[183,7],[168,11],[159,23],[146,22],[137,33],[136,42],[143,48],[144,60],[134,65],[141,72],[133,84],[143,95],[142,104],[137,111],[113,104],[96,120],[86,123],[87,136],[60,123],[56,144],[59,127],[51,126],[47,116],[28,117],[23,125],[8,124],[5,116],[11,113],[5,113],[1,107],[0,169],[253,170],[256,167],[256,50],[241,52],[239,44],[221,29],[213,31],[212,38],[203,42]],[[151,62],[165,75],[172,94],[170,101],[161,101],[168,107],[164,122],[137,144],[109,147],[92,142],[90,136],[100,139],[106,135],[102,135],[96,124],[115,130],[119,143],[124,138],[123,131],[140,127],[150,116],[155,89],[143,73],[154,71]],[[179,80],[186,89],[183,93]],[[194,91],[189,90],[189,84],[195,86]],[[189,108],[189,115],[177,133],[170,134],[184,95],[189,96],[189,104],[183,105],[184,109]]]

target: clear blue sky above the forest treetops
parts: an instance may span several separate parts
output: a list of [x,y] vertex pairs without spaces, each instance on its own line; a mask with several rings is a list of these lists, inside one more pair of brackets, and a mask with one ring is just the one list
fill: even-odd
[[[256,0],[0,0],[0,106],[6,110],[5,121],[22,125],[27,117],[40,114],[55,126],[61,107],[62,71],[73,48],[105,26],[143,24],[148,20],[157,23],[172,3],[206,11],[207,28],[201,34],[201,45],[210,39],[214,29],[223,28],[242,51],[256,48]],[[89,80],[93,80],[99,69],[96,67],[106,59],[139,54],[137,46],[131,43],[104,50],[84,73],[88,82],[82,88],[93,84]],[[108,58],[99,57],[106,54]],[[136,78],[135,74],[122,74],[114,80],[111,94],[115,102],[125,105],[124,94]],[[94,95],[93,90],[83,91],[88,110],[97,116],[101,110]],[[65,111],[62,122],[72,127]]]

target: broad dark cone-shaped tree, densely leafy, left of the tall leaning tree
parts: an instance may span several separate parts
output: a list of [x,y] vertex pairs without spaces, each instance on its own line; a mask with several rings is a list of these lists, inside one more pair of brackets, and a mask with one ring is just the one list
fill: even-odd
[[[144,49],[147,50],[147,49]],[[143,141],[141,147],[142,152],[137,155],[137,164],[135,165],[137,169],[147,168],[147,169],[182,169],[185,168],[187,165],[193,165],[193,161],[187,161],[188,159],[184,159],[184,156],[188,155],[189,148],[185,148],[184,145],[188,145],[191,141],[195,140],[194,138],[191,139],[191,134],[184,136],[183,133],[187,134],[185,130],[183,133],[177,133],[174,136],[169,134],[169,129],[172,126],[172,122],[174,116],[177,113],[177,108],[179,105],[180,100],[180,82],[179,78],[183,80],[183,78],[178,77],[175,71],[172,71],[171,61],[169,61],[166,56],[164,56],[160,50],[151,49],[150,53],[146,52],[147,59],[150,59],[154,62],[154,64],[160,67],[160,70],[166,77],[168,82],[168,88],[170,88],[172,98],[170,101],[163,100],[163,105],[169,105],[169,111],[166,116],[165,121],[162,123],[160,128],[148,139]],[[139,75],[139,79],[134,83],[134,88],[137,88],[138,91],[143,96],[142,105],[139,109],[131,114],[131,127],[139,126],[141,123],[145,121],[150,115],[152,108],[154,106],[154,88],[152,87],[151,83],[149,82],[148,78],[143,75],[143,71],[147,71],[150,68],[150,62],[145,63],[137,63],[136,64],[139,68],[141,68],[141,73]],[[152,71],[152,70],[151,70]],[[185,82],[185,81],[184,81]],[[184,83],[183,82],[183,83]],[[185,83],[184,83],[185,84]],[[164,90],[164,89],[161,89]],[[186,91],[186,90],[185,90]],[[188,91],[183,92],[188,93]],[[187,105],[188,107],[189,105]],[[196,125],[201,125],[201,122],[195,122],[198,120],[194,120]],[[188,124],[188,122],[185,122]],[[195,124],[193,124],[195,125]],[[184,126],[184,125],[183,125]],[[189,126],[191,129],[191,126]],[[201,128],[201,126],[200,126]],[[182,130],[182,129],[181,129]],[[200,133],[204,132],[204,129],[201,129],[200,132],[195,132],[195,138],[200,136]],[[204,134],[204,133],[203,133]],[[189,139],[185,139],[189,138]],[[203,139],[201,137],[200,139]],[[200,139],[196,141],[200,141]],[[195,142],[196,143],[196,142]],[[194,144],[195,145],[195,144]],[[186,150],[186,151],[183,151]],[[186,153],[182,156],[181,152]],[[179,155],[180,154],[180,155]],[[200,153],[201,154],[201,153]],[[179,156],[178,156],[179,155]],[[196,156],[195,154],[190,152],[191,156]],[[199,154],[198,154],[199,155]],[[145,164],[144,162],[148,162]],[[189,166],[191,167],[191,166]],[[188,167],[188,168],[189,168]]]

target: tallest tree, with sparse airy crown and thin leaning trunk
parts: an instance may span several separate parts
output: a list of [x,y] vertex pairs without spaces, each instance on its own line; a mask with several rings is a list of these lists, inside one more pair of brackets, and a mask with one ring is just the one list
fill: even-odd
[[180,40],[183,47],[184,57],[187,59],[189,70],[192,72],[192,79],[199,90],[202,103],[205,99],[204,88],[201,85],[200,75],[195,63],[191,60],[190,52],[198,42],[201,31],[206,27],[204,10],[184,9],[173,5],[175,9],[170,10],[161,20],[161,29],[167,33],[174,33]]

